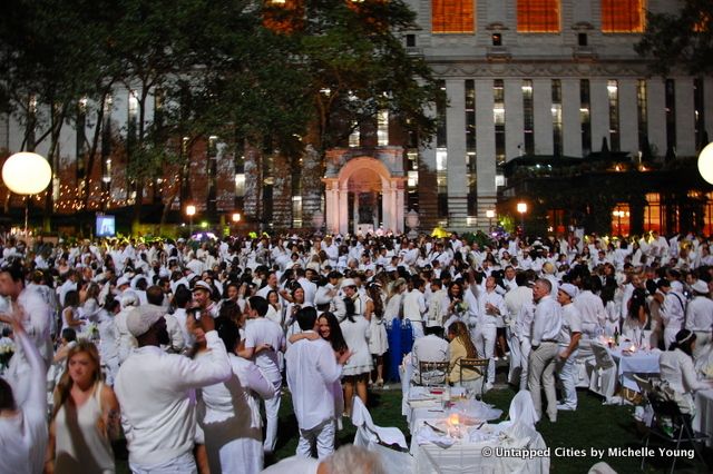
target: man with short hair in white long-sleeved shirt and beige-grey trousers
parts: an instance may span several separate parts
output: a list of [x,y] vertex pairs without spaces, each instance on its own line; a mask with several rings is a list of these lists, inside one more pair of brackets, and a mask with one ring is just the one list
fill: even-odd
[[557,393],[555,391],[555,363],[559,354],[557,339],[561,327],[561,308],[550,295],[551,284],[540,278],[535,282],[533,299],[537,304],[533,320],[533,339],[527,388],[533,396],[537,416],[543,416],[541,388],[545,387],[547,415],[557,421]]

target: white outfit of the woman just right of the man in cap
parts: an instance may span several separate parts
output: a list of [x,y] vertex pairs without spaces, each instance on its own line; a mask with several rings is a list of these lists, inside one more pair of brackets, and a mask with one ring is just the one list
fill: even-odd
[[[201,353],[196,358],[205,357]],[[272,398],[275,387],[247,359],[228,354],[233,374],[201,389],[198,423],[212,473],[258,473],[263,470],[263,431],[257,396]]]

